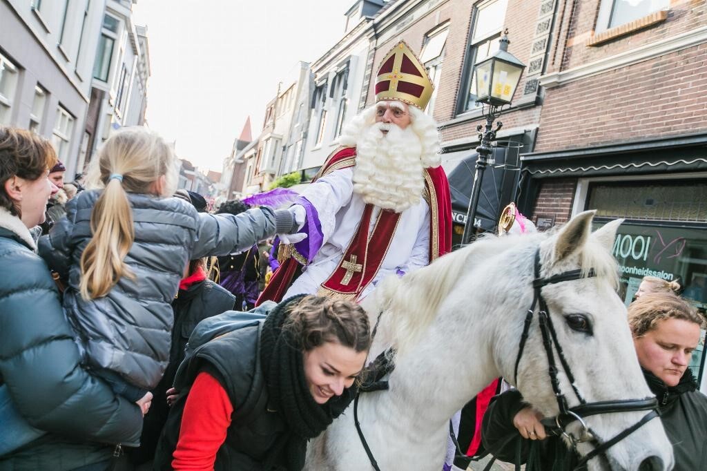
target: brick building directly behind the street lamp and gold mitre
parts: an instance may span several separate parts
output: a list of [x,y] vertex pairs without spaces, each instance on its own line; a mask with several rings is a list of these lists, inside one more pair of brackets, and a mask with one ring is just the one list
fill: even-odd
[[[443,167],[461,185],[452,188],[455,242],[464,230],[474,178],[474,149],[479,145],[476,128],[485,122],[474,94],[474,64],[498,50],[504,28],[508,28],[511,41],[509,52],[532,64],[515,91],[513,104],[503,112],[496,163],[484,174],[474,225],[491,230],[500,209],[515,197],[519,153],[530,152],[534,146],[542,108],[542,88],[537,79],[544,71],[554,6],[555,0],[398,0],[387,4],[375,17],[373,70],[390,47],[402,39],[418,53],[435,83],[426,112],[440,124]],[[364,86],[371,105],[375,100],[375,74],[370,74]]]

